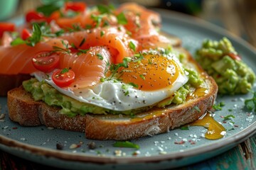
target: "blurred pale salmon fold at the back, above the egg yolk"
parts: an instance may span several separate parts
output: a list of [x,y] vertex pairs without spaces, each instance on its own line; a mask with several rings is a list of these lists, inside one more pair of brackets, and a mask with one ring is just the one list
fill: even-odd
[[126,3],[117,8],[116,13],[121,12],[127,18],[127,24],[124,27],[132,33],[132,38],[139,42],[138,50],[169,47],[174,44],[174,41],[159,33],[161,27],[159,13],[135,3]]

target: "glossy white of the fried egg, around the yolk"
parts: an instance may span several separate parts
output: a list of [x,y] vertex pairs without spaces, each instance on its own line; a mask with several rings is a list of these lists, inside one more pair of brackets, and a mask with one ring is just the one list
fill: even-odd
[[[169,58],[178,64],[178,67],[180,67],[179,70],[182,70],[181,64],[175,55],[169,55]],[[114,80],[100,82],[99,84],[84,89],[71,90],[56,86],[53,80],[46,77],[46,74],[42,72],[36,72],[34,76],[38,81],[45,79],[48,84],[60,91],[60,93],[75,98],[80,102],[89,103],[113,111],[129,111],[131,109],[154,105],[174,94],[176,90],[188,81],[188,77],[186,77],[183,72],[179,72],[178,78],[171,86],[166,86],[164,89],[156,91],[134,89],[134,87],[129,84],[126,84],[124,88],[124,83]]]

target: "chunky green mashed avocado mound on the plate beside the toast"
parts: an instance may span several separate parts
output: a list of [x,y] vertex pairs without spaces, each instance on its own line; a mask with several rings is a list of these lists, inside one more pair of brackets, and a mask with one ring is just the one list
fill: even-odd
[[228,38],[205,40],[196,60],[215,79],[219,94],[246,94],[252,89],[255,73],[240,60]]

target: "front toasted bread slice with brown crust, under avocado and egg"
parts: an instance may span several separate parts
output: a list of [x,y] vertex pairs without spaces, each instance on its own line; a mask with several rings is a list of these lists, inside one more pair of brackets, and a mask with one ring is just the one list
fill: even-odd
[[150,111],[129,115],[77,115],[70,118],[59,113],[60,108],[34,101],[22,86],[8,92],[9,118],[20,125],[46,125],[52,128],[85,132],[85,137],[94,140],[131,140],[146,135],[168,132],[181,125],[200,118],[213,105],[218,86],[212,77],[201,69],[191,55],[183,48],[176,49],[188,55],[188,67],[198,70],[205,80],[205,87],[191,91],[186,102],[166,108],[152,108]]

